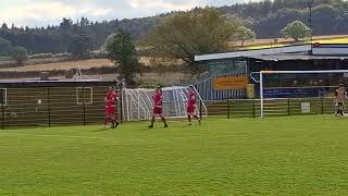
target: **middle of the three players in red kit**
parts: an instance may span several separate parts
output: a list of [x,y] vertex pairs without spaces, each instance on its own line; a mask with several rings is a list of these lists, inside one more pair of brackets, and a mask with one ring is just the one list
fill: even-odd
[[162,122],[164,123],[164,127],[167,127],[166,120],[163,115],[163,95],[162,95],[162,89],[160,87],[156,88],[152,99],[153,99],[153,111],[152,111],[151,125],[149,127],[150,128],[153,127],[153,123],[157,117],[160,117]]

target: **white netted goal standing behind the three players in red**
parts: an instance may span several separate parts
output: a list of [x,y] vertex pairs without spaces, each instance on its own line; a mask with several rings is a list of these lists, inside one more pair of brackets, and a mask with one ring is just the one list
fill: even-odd
[[[122,115],[124,121],[149,120],[152,117],[154,89],[137,88],[122,90]],[[197,114],[208,115],[207,108],[197,93]],[[162,88],[163,114],[166,118],[185,118],[188,87],[175,86]]]

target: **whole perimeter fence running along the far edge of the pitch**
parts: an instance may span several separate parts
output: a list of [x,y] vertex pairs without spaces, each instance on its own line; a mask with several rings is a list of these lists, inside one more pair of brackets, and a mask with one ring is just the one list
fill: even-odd
[[[107,89],[108,86],[1,88],[0,128],[102,124]],[[126,120],[122,115],[122,101],[117,102],[117,118]],[[258,118],[261,108],[259,99],[204,101],[204,106],[202,102],[198,106],[200,115],[227,119]],[[164,103],[164,111],[171,113],[173,108],[174,105]],[[265,117],[332,114],[334,111],[332,97],[264,100]],[[184,118],[185,112],[182,111]]]

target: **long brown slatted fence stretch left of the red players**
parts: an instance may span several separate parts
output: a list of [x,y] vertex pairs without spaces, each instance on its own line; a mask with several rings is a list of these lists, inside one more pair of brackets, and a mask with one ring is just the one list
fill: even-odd
[[7,128],[101,123],[107,89],[108,86],[2,89],[0,125]]

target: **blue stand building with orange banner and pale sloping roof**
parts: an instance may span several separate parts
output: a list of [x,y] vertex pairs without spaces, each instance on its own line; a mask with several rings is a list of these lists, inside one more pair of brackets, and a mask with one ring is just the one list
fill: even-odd
[[[270,49],[211,53],[195,57],[204,74],[196,86],[204,100],[259,97],[259,84],[251,78],[260,71],[347,70],[348,45],[299,45]],[[320,97],[343,83],[348,75],[273,74],[264,78],[265,96]],[[306,88],[306,89],[304,89]]]

